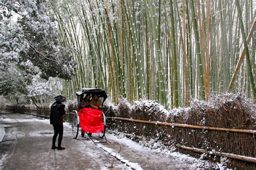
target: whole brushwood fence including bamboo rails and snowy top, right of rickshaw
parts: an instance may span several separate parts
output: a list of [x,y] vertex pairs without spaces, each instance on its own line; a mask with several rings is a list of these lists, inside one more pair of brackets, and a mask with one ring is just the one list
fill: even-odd
[[255,164],[255,104],[241,96],[212,102],[177,109],[169,115],[154,102],[150,106],[143,101],[135,103],[132,109],[129,103],[121,102],[105,114],[113,131]]

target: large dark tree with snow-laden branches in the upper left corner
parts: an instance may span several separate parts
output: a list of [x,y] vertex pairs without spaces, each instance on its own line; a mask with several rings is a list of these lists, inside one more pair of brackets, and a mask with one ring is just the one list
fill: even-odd
[[29,61],[44,79],[70,79],[75,66],[73,49],[58,44],[56,24],[43,1],[3,0],[0,6],[0,65],[14,61],[23,67]]

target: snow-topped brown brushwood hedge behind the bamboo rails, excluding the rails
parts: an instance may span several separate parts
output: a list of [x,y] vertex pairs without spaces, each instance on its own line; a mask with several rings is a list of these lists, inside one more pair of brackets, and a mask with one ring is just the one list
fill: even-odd
[[[110,106],[110,107],[109,107]],[[140,100],[130,104],[120,100],[117,107],[108,104],[105,114],[145,121],[212,126],[228,129],[255,128],[256,105],[244,94],[212,95],[209,102],[191,101],[188,108],[166,110],[154,101]],[[108,129],[162,141],[165,144],[185,145],[254,157],[254,136],[202,129],[181,128],[107,119]]]

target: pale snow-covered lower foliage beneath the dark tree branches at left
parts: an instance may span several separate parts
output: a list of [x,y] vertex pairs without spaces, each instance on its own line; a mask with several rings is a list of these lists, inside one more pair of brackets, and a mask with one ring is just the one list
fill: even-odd
[[[29,63],[24,64],[29,66]],[[31,72],[39,74],[31,75]],[[17,103],[30,103],[30,97],[37,101],[48,101],[51,96],[61,93],[62,81],[58,78],[44,80],[36,67],[32,67],[30,73],[17,67],[15,63],[0,66],[0,94]]]

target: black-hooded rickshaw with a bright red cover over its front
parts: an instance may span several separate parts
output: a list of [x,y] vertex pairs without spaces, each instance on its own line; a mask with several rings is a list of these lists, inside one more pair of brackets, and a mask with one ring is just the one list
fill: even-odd
[[106,132],[106,118],[104,112],[98,109],[80,107],[84,96],[86,96],[87,94],[90,94],[91,96],[97,94],[100,101],[102,101],[102,106],[107,98],[107,94],[103,89],[82,88],[76,93],[78,109],[75,110],[75,115],[73,116],[71,124],[72,137],[74,139],[77,138],[80,127],[84,133],[87,133],[91,140],[92,138],[89,133],[96,133],[98,134],[99,138],[104,138]]

